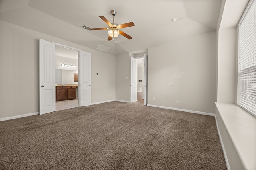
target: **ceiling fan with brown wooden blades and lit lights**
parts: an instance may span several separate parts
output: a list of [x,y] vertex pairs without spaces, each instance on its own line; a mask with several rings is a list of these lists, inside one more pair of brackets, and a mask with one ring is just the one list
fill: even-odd
[[110,31],[108,31],[108,41],[114,39],[114,37],[118,37],[119,33],[128,39],[132,39],[132,37],[130,35],[124,33],[123,31],[121,31],[119,29],[135,26],[134,23],[128,22],[128,23],[118,25],[117,23],[115,23],[116,10],[111,10],[110,13],[113,15],[112,23],[110,23],[110,21],[108,21],[104,16],[99,16],[104,22],[106,22],[108,24],[108,28],[90,28],[90,30],[110,29]]

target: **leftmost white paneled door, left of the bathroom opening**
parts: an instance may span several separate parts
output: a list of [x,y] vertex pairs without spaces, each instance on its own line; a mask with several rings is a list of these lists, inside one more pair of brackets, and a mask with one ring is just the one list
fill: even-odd
[[39,114],[55,111],[55,45],[39,39]]

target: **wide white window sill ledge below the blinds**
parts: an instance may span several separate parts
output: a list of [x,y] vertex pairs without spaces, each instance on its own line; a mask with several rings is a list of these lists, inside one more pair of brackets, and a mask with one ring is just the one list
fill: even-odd
[[[215,105],[219,113],[216,114],[217,122],[219,123],[219,119],[222,119],[226,128],[218,127],[220,134],[222,134],[221,131],[228,132],[244,169],[256,170],[256,117],[235,104],[216,102]],[[224,148],[228,148],[227,145],[225,146],[225,141],[222,143]],[[226,156],[228,164],[232,164],[232,158],[229,158],[228,153]]]

